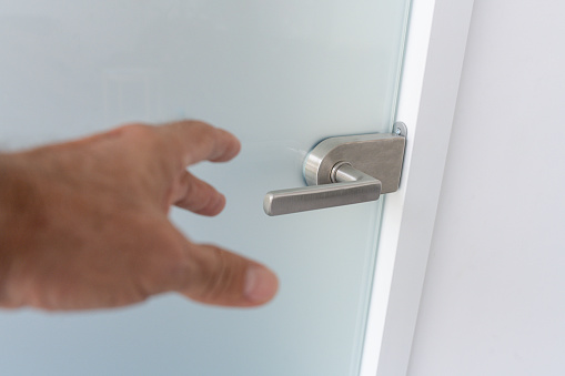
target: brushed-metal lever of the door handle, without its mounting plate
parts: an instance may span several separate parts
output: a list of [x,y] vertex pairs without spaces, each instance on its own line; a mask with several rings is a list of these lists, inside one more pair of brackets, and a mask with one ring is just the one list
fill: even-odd
[[331,184],[269,192],[263,200],[265,213],[281,215],[379,200],[379,180],[346,162],[332,170]]

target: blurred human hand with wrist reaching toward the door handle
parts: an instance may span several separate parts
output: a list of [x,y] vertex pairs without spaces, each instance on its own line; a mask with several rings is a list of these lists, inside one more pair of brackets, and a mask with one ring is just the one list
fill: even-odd
[[131,124],[0,154],[0,307],[120,307],[178,292],[213,305],[269,302],[276,276],[169,221],[171,205],[216,215],[225,197],[186,171],[240,151],[196,121]]

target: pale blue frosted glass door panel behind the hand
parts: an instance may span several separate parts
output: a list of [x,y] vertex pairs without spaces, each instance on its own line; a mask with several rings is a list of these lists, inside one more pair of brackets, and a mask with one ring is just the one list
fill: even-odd
[[0,313],[2,375],[356,375],[381,205],[269,217],[321,139],[390,132],[407,0],[0,2],[0,148],[122,122],[201,119],[242,141],[194,172],[228,197],[193,241],[270,265],[268,306],[163,295],[130,308]]

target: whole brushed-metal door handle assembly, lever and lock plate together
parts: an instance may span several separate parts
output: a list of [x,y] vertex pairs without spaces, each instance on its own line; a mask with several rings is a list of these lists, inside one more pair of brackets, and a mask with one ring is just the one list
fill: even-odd
[[325,139],[306,156],[309,186],[272,191],[263,200],[268,215],[376,201],[398,190],[406,144],[406,126],[394,133]]

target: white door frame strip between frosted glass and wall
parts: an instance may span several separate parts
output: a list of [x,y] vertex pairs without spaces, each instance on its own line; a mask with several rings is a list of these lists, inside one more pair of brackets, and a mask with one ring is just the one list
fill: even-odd
[[400,190],[386,196],[362,376],[405,375],[447,156],[474,0],[413,0],[396,120]]

